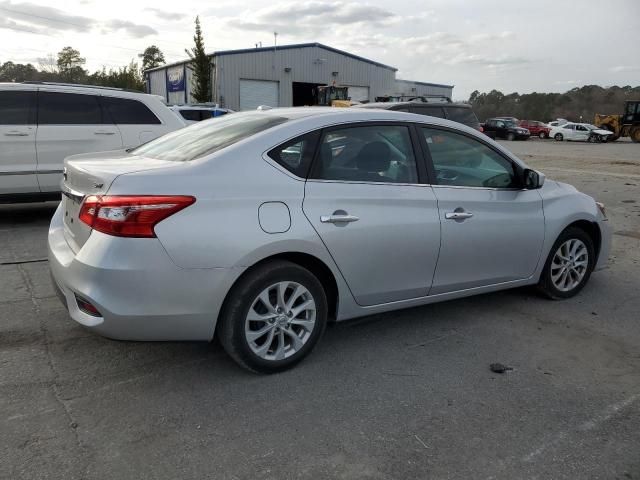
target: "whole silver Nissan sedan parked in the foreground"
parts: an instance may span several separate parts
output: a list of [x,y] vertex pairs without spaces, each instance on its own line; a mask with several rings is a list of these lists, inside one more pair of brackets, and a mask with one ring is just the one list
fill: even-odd
[[111,338],[304,358],[328,320],[537,285],[607,262],[604,206],[477,131],[387,110],[271,109],[67,158],[54,283]]

